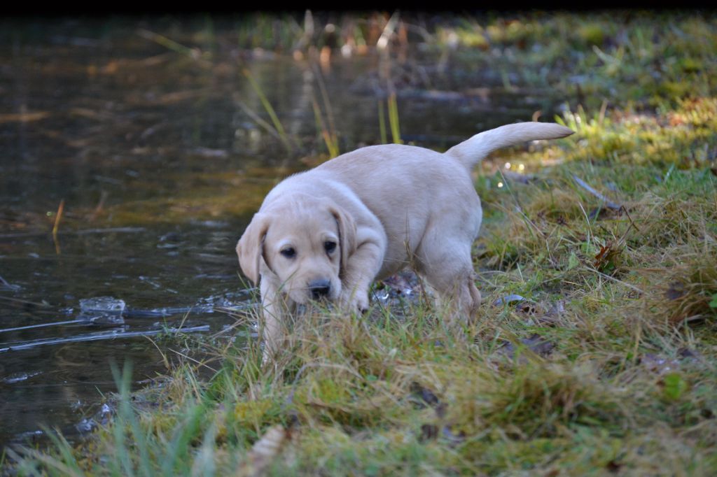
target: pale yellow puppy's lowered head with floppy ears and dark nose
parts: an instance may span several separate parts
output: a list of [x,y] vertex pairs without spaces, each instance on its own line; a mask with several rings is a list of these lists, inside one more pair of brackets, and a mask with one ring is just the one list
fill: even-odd
[[255,214],[237,244],[239,265],[254,283],[277,279],[296,303],[336,300],[356,223],[342,208],[308,196],[279,201]]

